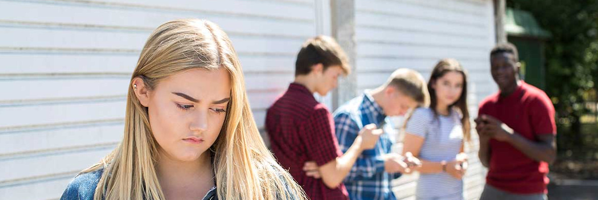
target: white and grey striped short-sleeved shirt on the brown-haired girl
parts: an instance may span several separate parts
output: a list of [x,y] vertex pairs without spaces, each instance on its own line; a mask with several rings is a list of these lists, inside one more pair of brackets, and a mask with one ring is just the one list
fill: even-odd
[[[435,115],[432,109],[418,108],[407,122],[405,133],[425,140],[419,158],[432,161],[453,161],[463,143],[460,114],[451,110],[449,116]],[[448,173],[420,174],[417,181],[418,200],[462,200],[463,180]]]

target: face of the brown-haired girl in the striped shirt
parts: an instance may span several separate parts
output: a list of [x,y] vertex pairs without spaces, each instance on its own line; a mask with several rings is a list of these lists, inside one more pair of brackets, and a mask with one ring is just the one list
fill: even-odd
[[461,97],[463,91],[463,75],[460,72],[447,72],[436,79],[432,88],[436,91],[439,105],[449,106]]

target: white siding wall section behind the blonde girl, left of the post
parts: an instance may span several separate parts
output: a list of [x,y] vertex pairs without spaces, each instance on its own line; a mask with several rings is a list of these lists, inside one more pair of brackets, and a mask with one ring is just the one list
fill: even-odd
[[329,34],[326,2],[0,1],[0,199],[59,198],[114,149],[130,73],[168,20],[209,19],[228,33],[262,127],[300,45]]

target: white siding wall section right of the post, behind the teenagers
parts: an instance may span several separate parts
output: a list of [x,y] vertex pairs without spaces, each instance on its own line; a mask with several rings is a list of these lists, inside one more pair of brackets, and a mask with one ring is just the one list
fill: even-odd
[[[477,116],[478,102],[496,91],[488,56],[495,42],[492,1],[356,0],[355,10],[360,91],[379,86],[399,67],[418,70],[428,79],[434,64],[447,57],[469,72],[472,116]],[[472,144],[465,193],[477,199],[486,171],[477,158],[477,140]],[[397,197],[414,199],[416,180],[411,175],[395,181]]]

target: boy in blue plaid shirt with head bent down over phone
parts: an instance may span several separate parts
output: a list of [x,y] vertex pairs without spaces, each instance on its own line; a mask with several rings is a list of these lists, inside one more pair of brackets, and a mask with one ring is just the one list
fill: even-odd
[[[385,84],[365,91],[334,112],[335,133],[341,150],[349,149],[359,130],[366,125],[382,128],[386,116],[404,115],[409,109],[428,102],[428,88],[422,75],[411,69],[396,70]],[[344,179],[350,199],[396,199],[390,181],[401,173],[410,173],[419,161],[393,153],[392,144],[389,134],[383,133],[374,149],[364,150],[359,155]],[[311,165],[306,163],[304,169],[309,170]]]

